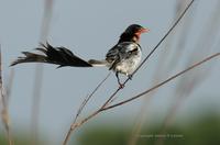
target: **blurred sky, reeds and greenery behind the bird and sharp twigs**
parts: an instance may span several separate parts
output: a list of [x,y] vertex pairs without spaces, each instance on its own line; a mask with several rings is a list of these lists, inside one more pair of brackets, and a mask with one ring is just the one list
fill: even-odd
[[[40,42],[65,46],[85,59],[102,59],[133,23],[143,34],[143,57],[158,43],[190,0],[0,0],[3,96],[0,144],[58,145],[80,103],[107,76],[107,68],[9,67]],[[220,1],[196,0],[132,81],[120,101],[196,62],[220,52]],[[94,118],[73,135],[77,145],[220,144],[220,62],[216,58],[128,104]],[[125,79],[122,77],[122,79]],[[111,74],[86,107],[98,109],[118,88]],[[6,111],[7,110],[7,111]],[[7,130],[10,135],[7,135]]]

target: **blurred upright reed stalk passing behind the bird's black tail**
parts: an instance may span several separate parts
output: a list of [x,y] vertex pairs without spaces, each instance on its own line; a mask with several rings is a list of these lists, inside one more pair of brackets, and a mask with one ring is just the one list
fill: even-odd
[[[46,42],[51,19],[53,13],[53,3],[54,0],[45,0],[44,3],[44,15],[42,20],[40,42]],[[35,67],[35,80],[33,85],[33,102],[32,102],[32,112],[31,112],[31,136],[32,136],[32,145],[38,144],[38,120],[40,120],[40,105],[41,105],[41,92],[43,85],[43,65],[37,64]]]

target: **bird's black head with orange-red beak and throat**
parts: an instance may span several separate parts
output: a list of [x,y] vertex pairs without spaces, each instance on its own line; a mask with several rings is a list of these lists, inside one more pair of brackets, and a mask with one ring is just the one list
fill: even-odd
[[141,34],[148,32],[148,29],[145,29],[139,24],[131,24],[127,30],[121,34],[119,43],[121,42],[139,42]]

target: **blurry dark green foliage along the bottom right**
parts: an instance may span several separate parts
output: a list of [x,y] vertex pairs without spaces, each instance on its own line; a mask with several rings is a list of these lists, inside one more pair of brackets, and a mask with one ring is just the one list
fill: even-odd
[[[143,126],[138,145],[152,145],[157,141],[161,126]],[[90,127],[80,134],[79,145],[125,145],[129,141],[131,129],[111,127],[101,125]],[[153,136],[152,136],[153,135]],[[207,114],[197,121],[185,125],[173,125],[167,129],[163,137],[165,145],[217,145],[220,144],[220,118],[215,114]],[[174,136],[176,135],[176,137]]]

